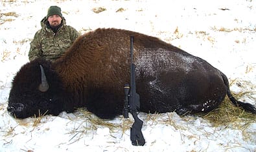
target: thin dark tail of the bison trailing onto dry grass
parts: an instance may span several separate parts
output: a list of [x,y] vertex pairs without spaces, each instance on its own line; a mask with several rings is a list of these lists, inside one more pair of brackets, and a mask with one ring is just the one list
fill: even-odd
[[224,84],[226,85],[227,97],[229,98],[229,100],[231,100],[231,102],[233,104],[235,104],[235,106],[242,107],[246,111],[250,111],[251,113],[255,113],[256,114],[255,106],[253,106],[252,104],[249,104],[249,103],[241,102],[241,101],[235,99],[235,97],[233,97],[231,91],[229,90],[229,81],[227,79],[227,76],[224,73],[222,73],[221,71],[220,71],[220,74],[222,75],[222,79],[224,81]]

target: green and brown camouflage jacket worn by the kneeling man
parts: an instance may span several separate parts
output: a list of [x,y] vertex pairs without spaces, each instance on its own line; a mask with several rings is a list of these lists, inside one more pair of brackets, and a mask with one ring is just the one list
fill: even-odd
[[41,30],[34,35],[30,43],[29,60],[32,61],[37,57],[42,57],[48,61],[55,61],[65,53],[67,48],[74,43],[80,35],[75,28],[67,26],[65,18],[62,19],[62,26],[54,33],[47,28],[47,19],[41,20]]

